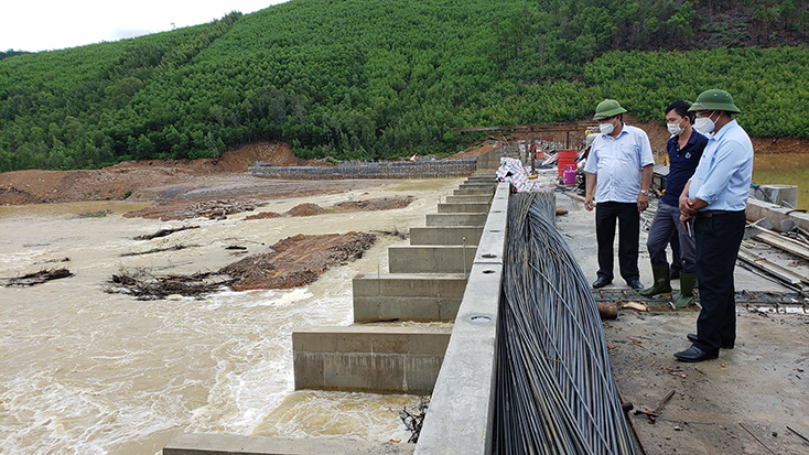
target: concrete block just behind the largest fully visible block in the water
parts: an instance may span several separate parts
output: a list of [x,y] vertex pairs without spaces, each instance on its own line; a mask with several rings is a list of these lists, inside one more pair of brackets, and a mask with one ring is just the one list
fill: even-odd
[[466,275],[391,273],[353,280],[354,322],[454,321]]

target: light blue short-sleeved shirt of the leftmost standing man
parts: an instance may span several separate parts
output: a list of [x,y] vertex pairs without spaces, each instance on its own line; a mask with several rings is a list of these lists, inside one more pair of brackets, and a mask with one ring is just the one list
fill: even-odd
[[640,128],[624,124],[617,138],[598,134],[590,149],[584,172],[596,174],[596,203],[636,203],[640,170],[655,163],[649,137]]

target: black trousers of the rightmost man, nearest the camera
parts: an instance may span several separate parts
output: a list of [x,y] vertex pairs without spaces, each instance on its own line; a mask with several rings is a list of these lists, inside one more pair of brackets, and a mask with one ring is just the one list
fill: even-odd
[[709,354],[736,340],[736,301],[733,269],[745,225],[744,210],[697,218],[697,279],[702,311],[697,319],[694,345]]

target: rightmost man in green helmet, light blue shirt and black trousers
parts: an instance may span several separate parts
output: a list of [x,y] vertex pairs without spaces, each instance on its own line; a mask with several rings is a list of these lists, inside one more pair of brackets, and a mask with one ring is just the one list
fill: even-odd
[[725,90],[705,90],[691,106],[694,128],[713,132],[694,175],[680,195],[680,220],[697,238],[697,279],[702,310],[691,347],[675,354],[681,361],[719,357],[736,340],[733,270],[744,236],[745,208],[753,178],[753,143],[733,119],[742,111]]

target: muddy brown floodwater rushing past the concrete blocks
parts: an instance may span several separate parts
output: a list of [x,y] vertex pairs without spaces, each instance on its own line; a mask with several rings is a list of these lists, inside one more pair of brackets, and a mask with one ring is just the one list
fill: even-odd
[[[407,208],[246,221],[161,223],[123,218],[142,203],[0,207],[0,278],[65,267],[74,277],[0,288],[0,452],[155,454],[179,432],[407,441],[398,418],[413,396],[293,391],[291,333],[348,325],[352,278],[387,271],[380,236],[366,254],[292,290],[224,291],[202,300],[138,301],[104,292],[114,273],[217,270],[298,234],[407,230],[424,226],[462,178],[395,181],[343,194],[269,201],[257,212],[302,203],[412,195]],[[87,212],[111,210],[79,218]],[[198,225],[142,241],[134,236]],[[176,251],[121,256],[183,246]],[[65,258],[68,261],[62,262]],[[6,280],[2,281],[3,283]]]

